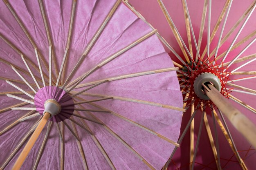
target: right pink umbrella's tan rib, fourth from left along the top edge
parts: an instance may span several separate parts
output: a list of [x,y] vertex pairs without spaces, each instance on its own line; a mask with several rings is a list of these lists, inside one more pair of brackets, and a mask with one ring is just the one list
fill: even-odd
[[[227,11],[227,8],[228,8],[228,6],[229,6],[229,3],[230,3],[230,0],[226,0],[226,2],[225,2],[225,4],[224,4],[224,7],[223,7],[223,9],[222,9],[222,11],[221,11],[221,13],[220,13],[220,16],[219,16],[219,18],[218,18],[218,20],[217,20],[217,22],[216,22],[216,24],[215,24],[215,26],[214,26],[214,28],[213,28],[213,31],[211,32],[211,37],[210,37],[210,39],[209,39],[209,44],[211,44],[211,42],[212,42],[214,36],[216,35],[216,33],[217,33],[218,29],[219,29],[220,23],[221,23],[221,21],[222,21],[224,15],[225,15],[225,13],[226,13],[226,11]],[[201,56],[202,56],[202,59],[204,58],[204,55],[206,54],[206,52],[207,52],[207,46],[204,48],[204,51],[203,51],[203,53],[202,53],[202,55],[201,55]]]

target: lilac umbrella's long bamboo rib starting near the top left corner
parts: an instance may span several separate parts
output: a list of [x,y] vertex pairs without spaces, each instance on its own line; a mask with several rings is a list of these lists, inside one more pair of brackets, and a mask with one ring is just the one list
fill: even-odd
[[[31,42],[32,46],[34,48],[37,48],[36,43],[34,42],[33,38],[31,37],[31,35],[29,34],[29,32],[27,31],[27,29],[25,28],[24,24],[22,23],[22,21],[20,20],[20,18],[18,17],[18,15],[16,14],[16,12],[13,10],[13,8],[11,7],[11,5],[9,4],[8,0],[4,0],[4,3],[6,4],[6,6],[8,7],[8,9],[11,11],[13,17],[16,19],[16,21],[18,22],[18,24],[20,25],[20,27],[22,28],[22,30],[24,31],[24,33],[27,35],[27,38],[29,39],[29,41]],[[45,58],[41,55],[41,53],[39,53],[38,51],[38,55],[40,57],[40,59],[42,60],[43,64],[45,65],[45,68],[47,69],[47,71],[49,72],[49,68],[47,66],[47,62],[45,60]]]

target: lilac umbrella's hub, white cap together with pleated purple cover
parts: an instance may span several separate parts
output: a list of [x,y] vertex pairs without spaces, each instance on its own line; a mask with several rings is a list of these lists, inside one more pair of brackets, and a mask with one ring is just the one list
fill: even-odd
[[56,86],[40,88],[34,98],[36,110],[41,115],[50,113],[50,121],[60,122],[68,119],[74,112],[72,97]]

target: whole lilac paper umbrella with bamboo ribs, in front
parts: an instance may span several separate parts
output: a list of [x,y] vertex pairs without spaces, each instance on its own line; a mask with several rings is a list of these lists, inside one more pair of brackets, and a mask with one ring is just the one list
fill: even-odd
[[1,1],[0,170],[161,169],[184,109],[155,33],[121,0]]

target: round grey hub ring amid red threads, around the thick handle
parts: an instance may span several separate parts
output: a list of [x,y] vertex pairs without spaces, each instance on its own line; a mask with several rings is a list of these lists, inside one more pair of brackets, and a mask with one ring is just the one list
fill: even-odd
[[221,82],[220,82],[220,79],[212,74],[212,73],[201,73],[199,74],[196,78],[195,78],[195,81],[194,81],[194,91],[195,91],[195,94],[200,97],[201,99],[204,99],[204,100],[210,100],[209,97],[207,95],[204,94],[203,90],[202,90],[202,84],[205,84],[205,83],[211,83],[213,84],[213,86],[218,90],[220,91],[221,90]]

